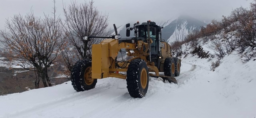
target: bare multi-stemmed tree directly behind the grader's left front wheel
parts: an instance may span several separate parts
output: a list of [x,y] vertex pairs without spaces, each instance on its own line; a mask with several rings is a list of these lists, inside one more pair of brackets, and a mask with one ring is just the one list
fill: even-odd
[[77,60],[91,59],[92,44],[99,43],[102,39],[93,38],[90,41],[82,40],[84,36],[108,36],[108,14],[102,14],[93,5],[93,0],[77,4],[71,4],[65,8],[65,22],[63,29],[67,35],[67,45],[62,50],[66,67],[71,71],[72,65]]

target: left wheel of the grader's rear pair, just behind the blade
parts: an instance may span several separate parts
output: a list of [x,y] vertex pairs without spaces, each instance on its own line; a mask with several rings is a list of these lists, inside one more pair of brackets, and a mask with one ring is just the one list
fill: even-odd
[[164,75],[169,77],[175,76],[175,61],[173,58],[166,58],[164,60]]

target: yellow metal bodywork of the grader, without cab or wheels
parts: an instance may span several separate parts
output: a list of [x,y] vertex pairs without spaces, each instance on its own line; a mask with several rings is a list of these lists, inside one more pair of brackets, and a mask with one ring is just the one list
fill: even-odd
[[[166,42],[161,42],[162,48],[162,58],[163,60],[168,57],[172,57],[170,52],[170,45]],[[128,50],[127,56],[132,56],[133,58],[128,60],[128,62],[140,58],[145,60],[148,65],[148,71],[149,72],[155,72],[156,76],[159,76],[159,71],[163,72],[163,63],[161,62],[160,70],[154,66],[153,62],[149,62],[146,57],[149,55],[149,53],[146,53],[147,50],[143,49],[143,47],[148,47],[148,43],[145,43],[143,41],[138,41],[135,43],[127,43],[127,42],[121,42],[119,44],[119,40],[115,39],[105,39],[100,44],[93,44],[92,45],[92,79],[102,79],[107,77],[116,77],[121,79],[126,79],[126,75],[116,73],[119,72],[126,72],[129,63],[126,65],[126,68],[120,69],[116,68],[116,58],[118,55],[119,50],[126,49]],[[136,50],[137,49],[137,50]],[[129,50],[134,50],[133,53],[131,53]],[[143,51],[144,50],[144,51]],[[124,62],[117,63],[119,66],[124,65]]]

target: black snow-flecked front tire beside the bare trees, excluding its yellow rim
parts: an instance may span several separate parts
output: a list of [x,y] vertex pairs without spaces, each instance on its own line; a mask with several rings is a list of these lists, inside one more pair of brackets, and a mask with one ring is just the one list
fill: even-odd
[[88,71],[89,67],[92,67],[92,62],[87,59],[79,60],[73,66],[73,69],[71,71],[71,83],[73,85],[73,88],[78,92],[87,91],[95,88],[96,86],[97,79],[92,79],[92,82],[88,82],[89,84],[87,84],[84,79],[84,73],[85,71]]

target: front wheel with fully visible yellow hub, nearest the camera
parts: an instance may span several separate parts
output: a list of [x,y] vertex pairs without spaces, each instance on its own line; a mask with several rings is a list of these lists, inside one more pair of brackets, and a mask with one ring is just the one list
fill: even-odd
[[142,98],[148,91],[148,66],[144,60],[135,59],[128,65],[127,89],[130,96]]

